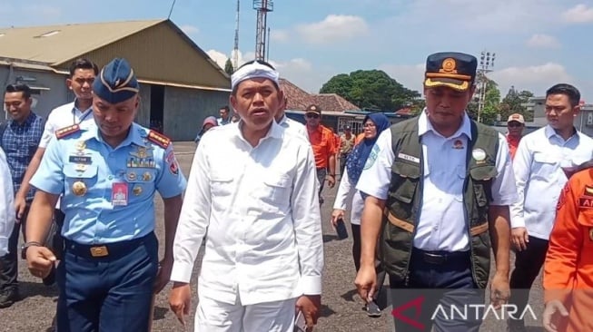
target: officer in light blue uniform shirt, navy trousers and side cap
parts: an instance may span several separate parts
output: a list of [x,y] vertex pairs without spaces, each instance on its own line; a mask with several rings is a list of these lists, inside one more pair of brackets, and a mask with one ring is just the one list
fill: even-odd
[[[23,246],[28,268],[49,273],[44,247],[53,207],[63,194],[64,258],[57,269],[60,332],[147,331],[153,292],[171,275],[173,237],[185,178],[172,142],[133,123],[139,84],[124,59],[94,81],[96,125],[55,132],[31,184],[37,192]],[[155,191],[164,202],[165,249],[153,233]]]

